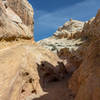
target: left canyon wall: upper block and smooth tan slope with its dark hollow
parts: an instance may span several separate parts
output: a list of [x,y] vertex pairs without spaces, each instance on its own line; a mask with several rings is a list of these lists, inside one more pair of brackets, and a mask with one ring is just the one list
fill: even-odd
[[32,100],[62,78],[60,59],[31,40],[33,14],[27,0],[0,0],[0,100]]

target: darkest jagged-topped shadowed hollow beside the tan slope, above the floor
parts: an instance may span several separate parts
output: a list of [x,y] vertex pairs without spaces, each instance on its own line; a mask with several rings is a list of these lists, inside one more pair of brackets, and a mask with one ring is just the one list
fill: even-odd
[[61,81],[66,77],[67,71],[63,62],[58,62],[57,66],[53,66],[49,62],[43,61],[38,65],[38,72],[40,76],[40,83],[44,85],[44,88],[50,82]]

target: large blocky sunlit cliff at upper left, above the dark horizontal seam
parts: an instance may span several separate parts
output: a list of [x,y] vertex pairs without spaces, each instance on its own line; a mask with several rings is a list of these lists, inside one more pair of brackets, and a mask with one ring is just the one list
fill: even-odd
[[27,0],[0,1],[0,39],[31,39],[33,24],[33,10]]

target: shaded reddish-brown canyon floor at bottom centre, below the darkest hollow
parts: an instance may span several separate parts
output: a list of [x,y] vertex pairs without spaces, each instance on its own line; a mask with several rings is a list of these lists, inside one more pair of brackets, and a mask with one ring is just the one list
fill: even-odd
[[74,95],[68,88],[69,78],[70,75],[65,76],[65,78],[60,81],[55,80],[48,83],[47,86],[43,89],[46,94],[43,96],[37,96],[36,98],[31,97],[31,100],[74,100]]

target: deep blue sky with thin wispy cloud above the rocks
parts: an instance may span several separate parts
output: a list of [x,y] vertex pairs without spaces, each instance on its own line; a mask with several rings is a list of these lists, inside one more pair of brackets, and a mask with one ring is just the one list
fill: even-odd
[[100,8],[100,0],[28,0],[34,9],[34,38],[51,36],[70,18],[87,21]]

